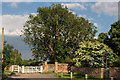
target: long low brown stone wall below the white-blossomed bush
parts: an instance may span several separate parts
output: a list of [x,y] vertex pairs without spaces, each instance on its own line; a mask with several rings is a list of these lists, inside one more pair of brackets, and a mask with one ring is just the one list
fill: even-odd
[[[103,70],[103,71],[102,71]],[[114,68],[88,68],[88,67],[71,67],[72,72],[80,73],[80,74],[88,74],[94,77],[103,77],[106,74],[106,71],[109,70],[109,77],[114,77],[117,80],[120,80],[120,67]]]

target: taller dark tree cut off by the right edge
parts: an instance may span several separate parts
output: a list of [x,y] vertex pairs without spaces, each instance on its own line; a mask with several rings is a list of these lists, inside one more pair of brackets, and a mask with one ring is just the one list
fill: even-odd
[[111,24],[108,34],[110,35],[111,48],[120,56],[120,20]]

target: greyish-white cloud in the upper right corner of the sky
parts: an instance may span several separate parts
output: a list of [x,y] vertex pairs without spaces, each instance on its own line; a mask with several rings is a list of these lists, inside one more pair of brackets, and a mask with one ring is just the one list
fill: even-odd
[[117,2],[96,2],[91,6],[91,10],[100,16],[102,13],[109,16],[118,16]]

